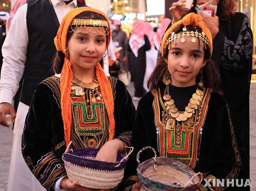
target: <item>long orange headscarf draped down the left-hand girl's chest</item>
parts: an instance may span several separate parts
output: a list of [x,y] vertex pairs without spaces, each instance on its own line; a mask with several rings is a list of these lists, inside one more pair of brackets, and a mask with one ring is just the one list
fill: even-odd
[[[56,49],[58,51],[62,51],[63,54],[65,55],[65,60],[63,63],[63,68],[61,70],[61,76],[60,76],[60,92],[61,92],[61,116],[64,124],[66,146],[70,142],[71,121],[72,121],[72,115],[71,115],[72,106],[70,101],[70,92],[71,92],[71,82],[73,79],[73,72],[71,70],[71,62],[69,60],[69,55],[67,54],[67,52],[65,52],[66,45],[67,45],[67,33],[68,33],[68,28],[72,23],[73,19],[77,15],[85,11],[95,12],[105,17],[109,24],[109,29],[110,29],[109,19],[107,19],[107,16],[103,12],[90,7],[79,7],[79,8],[70,10],[63,17],[60,24],[60,28],[57,32],[56,37],[54,38]],[[111,31],[109,30],[108,41],[107,41],[108,43],[106,44],[105,50],[107,50],[107,47],[109,45],[110,37],[111,37]],[[97,63],[95,68],[96,68],[96,76],[100,83],[101,94],[105,103],[105,107],[107,109],[107,115],[109,116],[109,140],[111,140],[114,138],[114,130],[115,130],[114,98],[113,98],[110,82],[107,79],[107,76],[105,75],[102,67],[100,66],[99,63]]]

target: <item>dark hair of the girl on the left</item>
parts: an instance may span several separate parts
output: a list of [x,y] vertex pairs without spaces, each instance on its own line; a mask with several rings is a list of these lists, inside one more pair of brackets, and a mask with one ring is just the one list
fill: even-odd
[[[95,13],[95,12],[91,12],[91,11],[85,11],[85,12],[82,12],[81,14],[77,15],[75,17],[76,19],[82,19],[82,18],[89,18],[89,19],[102,19],[102,20],[107,20],[104,16],[98,14],[98,13]],[[72,31],[71,30],[71,27],[69,27],[68,31]],[[68,32],[67,34],[67,42],[70,40],[72,34],[74,32]],[[107,35],[107,38],[108,38],[108,35]],[[106,39],[107,39],[106,38]],[[108,42],[106,42],[108,43]],[[56,73],[56,74],[59,74],[61,73],[61,70],[63,68],[63,63],[64,63],[64,58],[65,58],[65,55],[63,54],[63,52],[61,51],[56,51],[56,54],[53,58],[53,71]],[[104,62],[103,62],[103,58],[100,60],[100,65],[104,66]]]

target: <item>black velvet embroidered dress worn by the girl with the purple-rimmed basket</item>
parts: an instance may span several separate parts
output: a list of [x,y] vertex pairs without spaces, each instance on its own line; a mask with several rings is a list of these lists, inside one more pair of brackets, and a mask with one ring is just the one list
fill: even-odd
[[[113,77],[108,79],[114,97],[114,137],[130,145],[135,107],[123,82]],[[84,96],[76,96],[74,91],[70,93],[71,148],[100,148],[109,137],[109,121],[100,87],[97,90],[84,89]],[[42,81],[35,90],[22,136],[24,160],[47,190],[54,190],[55,182],[66,175],[61,160],[65,149],[60,78],[52,76]]]

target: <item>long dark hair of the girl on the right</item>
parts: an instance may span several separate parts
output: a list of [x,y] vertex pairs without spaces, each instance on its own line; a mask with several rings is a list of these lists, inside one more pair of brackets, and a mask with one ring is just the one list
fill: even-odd
[[[182,28],[184,26],[180,26],[176,30],[174,30],[175,33],[179,33],[182,31]],[[196,31],[198,30],[199,33],[202,32],[201,28],[194,28],[192,26],[187,26],[187,31]],[[199,40],[199,39],[198,39]],[[198,47],[199,49],[199,47]],[[156,67],[154,68],[153,72],[149,76],[149,80],[147,82],[147,87],[149,90],[158,89],[158,87],[161,87],[164,85],[162,82],[163,76],[165,75],[165,72],[168,69],[168,64],[165,62],[164,59],[167,59],[168,57],[168,49],[165,52],[164,56],[160,56],[160,58],[157,61]],[[207,63],[202,68],[203,71],[203,80],[204,80],[204,86],[209,87],[211,89],[214,89],[216,92],[221,94],[221,90],[219,89],[221,85],[221,78],[219,75],[219,69],[216,68],[214,62],[210,60],[210,50],[207,48],[204,51],[204,60],[207,59]],[[196,76],[196,83],[200,81],[201,74],[200,72]]]

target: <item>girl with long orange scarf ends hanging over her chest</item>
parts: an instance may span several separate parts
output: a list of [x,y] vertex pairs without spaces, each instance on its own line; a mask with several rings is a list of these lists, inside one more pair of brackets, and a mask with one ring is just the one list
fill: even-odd
[[109,162],[130,145],[132,99],[102,69],[110,36],[107,16],[89,7],[71,10],[60,24],[53,61],[60,75],[39,83],[22,137],[24,159],[47,190],[88,190],[66,177],[61,156],[70,141],[72,149],[100,148],[96,160]]

